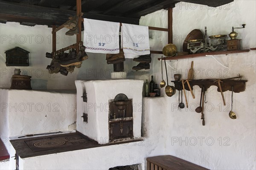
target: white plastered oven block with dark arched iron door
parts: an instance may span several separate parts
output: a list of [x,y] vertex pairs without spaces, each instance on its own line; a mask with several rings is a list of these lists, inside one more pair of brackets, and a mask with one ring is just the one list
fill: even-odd
[[134,79],[77,80],[77,131],[99,144],[140,138],[143,83]]

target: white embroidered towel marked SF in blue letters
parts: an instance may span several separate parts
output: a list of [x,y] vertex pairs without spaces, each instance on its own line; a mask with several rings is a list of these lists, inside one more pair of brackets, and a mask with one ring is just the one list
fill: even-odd
[[118,54],[120,23],[84,18],[86,52]]

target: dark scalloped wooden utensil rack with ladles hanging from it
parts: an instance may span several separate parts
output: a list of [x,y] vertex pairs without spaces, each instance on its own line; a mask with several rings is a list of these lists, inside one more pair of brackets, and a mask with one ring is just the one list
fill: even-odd
[[[218,82],[215,82],[216,80],[207,80],[207,79],[199,79],[199,80],[191,80],[189,81],[189,84],[193,90],[193,86],[198,85],[200,88],[204,85],[205,91],[207,91],[208,88],[210,88],[212,85],[215,85],[218,87]],[[240,93],[245,90],[245,82],[247,80],[221,80],[221,88],[222,91],[232,91],[232,86],[234,86],[233,91],[234,93]],[[176,90],[180,91],[182,90],[182,82],[181,81],[172,81],[175,84]],[[185,89],[189,91],[189,87],[187,83],[185,83]],[[220,89],[218,87],[218,92],[220,92]]]

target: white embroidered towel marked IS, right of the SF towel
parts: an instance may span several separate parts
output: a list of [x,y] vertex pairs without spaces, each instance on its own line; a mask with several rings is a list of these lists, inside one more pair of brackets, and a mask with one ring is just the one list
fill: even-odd
[[124,53],[150,54],[148,26],[122,23],[122,47]]

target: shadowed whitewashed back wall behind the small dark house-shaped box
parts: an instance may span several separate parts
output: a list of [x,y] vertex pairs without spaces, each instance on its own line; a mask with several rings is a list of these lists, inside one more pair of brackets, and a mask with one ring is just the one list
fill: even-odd
[[[76,42],[76,36],[65,36],[67,28],[57,32],[57,49]],[[81,68],[75,68],[67,76],[49,74],[46,69],[51,59],[45,57],[52,51],[52,28],[47,26],[23,26],[15,22],[0,23],[0,88],[10,88],[10,79],[15,68],[21,69],[22,75],[32,76],[32,89],[76,89],[76,79],[111,79],[113,65],[106,62],[106,54],[88,53],[89,59]],[[83,32],[82,32],[83,34]],[[82,36],[83,39],[83,36]],[[6,67],[5,51],[16,46],[29,51],[28,67]],[[125,71],[128,79],[148,79],[149,71],[136,72],[132,67],[137,65],[132,59],[126,59]]]

